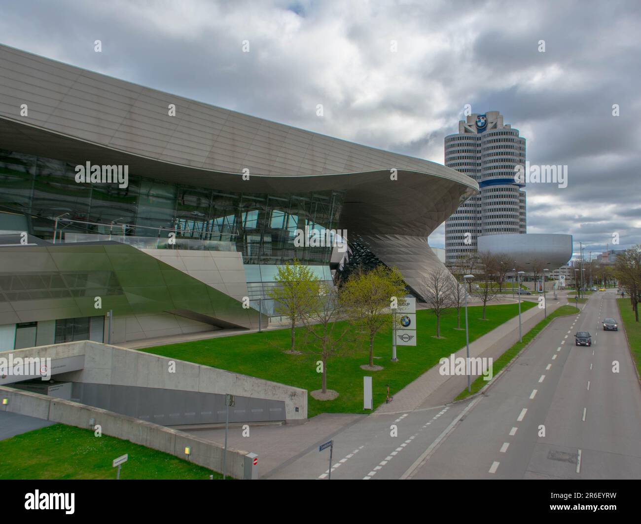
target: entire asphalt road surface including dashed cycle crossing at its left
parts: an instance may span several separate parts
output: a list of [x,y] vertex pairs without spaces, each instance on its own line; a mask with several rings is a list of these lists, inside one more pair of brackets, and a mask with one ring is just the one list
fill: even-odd
[[[622,326],[603,332],[606,317],[619,319],[613,291],[554,321],[487,394],[345,428],[331,478],[641,478],[641,388]],[[579,330],[592,347],[574,345]],[[329,450],[310,448],[269,478],[328,469]]]

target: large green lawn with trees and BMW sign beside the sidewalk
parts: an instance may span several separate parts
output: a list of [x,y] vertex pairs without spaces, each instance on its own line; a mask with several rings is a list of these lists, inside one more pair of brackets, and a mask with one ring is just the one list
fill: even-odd
[[[535,303],[524,302],[521,308],[525,311],[534,306]],[[518,314],[516,304],[492,305],[487,308],[487,320],[481,320],[481,309],[481,306],[469,307],[470,341]],[[365,371],[360,368],[362,364],[368,363],[366,342],[358,344],[349,355],[329,360],[328,389],[338,391],[340,396],[331,401],[319,401],[309,395],[308,417],[312,418],[323,412],[368,413],[369,410],[363,410],[363,376],[374,377],[374,407],[377,407],[385,402],[386,384],[390,385],[390,394],[393,395],[438,364],[440,357],[449,356],[465,346],[464,309],[461,312],[462,330],[456,330],[455,312],[442,316],[442,339],[433,336],[436,333],[436,319],[431,310],[419,310],[417,324],[417,345],[398,346],[398,362],[390,362],[391,328],[379,333],[374,341],[374,356],[382,358],[374,359],[374,364],[383,366],[381,371]],[[299,328],[297,341],[303,341],[302,333],[303,328]],[[308,391],[320,389],[321,375],[316,371],[319,355],[284,353],[283,350],[289,348],[289,337],[289,330],[283,329],[156,346],[140,351],[227,369]],[[304,351],[302,344],[298,349]]]

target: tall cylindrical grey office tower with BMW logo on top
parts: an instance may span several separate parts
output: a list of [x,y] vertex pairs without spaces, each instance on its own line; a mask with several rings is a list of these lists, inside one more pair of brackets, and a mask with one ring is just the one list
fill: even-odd
[[480,189],[445,221],[447,263],[476,253],[481,235],[526,233],[524,184],[514,182],[514,167],[525,158],[525,139],[498,111],[469,115],[458,123],[458,133],[445,137],[445,165],[476,180]]

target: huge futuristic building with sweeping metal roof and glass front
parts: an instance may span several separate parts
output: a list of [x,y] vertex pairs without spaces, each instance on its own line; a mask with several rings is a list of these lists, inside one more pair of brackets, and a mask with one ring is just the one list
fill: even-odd
[[0,350],[255,328],[294,259],[328,281],[396,266],[416,292],[441,264],[429,233],[477,193],[443,165],[0,46]]

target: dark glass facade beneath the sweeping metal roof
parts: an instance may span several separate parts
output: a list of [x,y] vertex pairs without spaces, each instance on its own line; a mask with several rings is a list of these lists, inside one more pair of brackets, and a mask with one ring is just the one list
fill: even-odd
[[[245,264],[329,264],[331,248],[296,247],[297,230],[337,229],[340,191],[254,194],[165,183],[129,173],[129,184],[76,183],[75,165],[0,149],[0,232],[57,231],[233,242]],[[148,174],[149,175],[149,174]],[[215,176],[215,175],[212,175]],[[60,234],[60,233],[58,233]],[[64,237],[63,237],[64,238]]]

